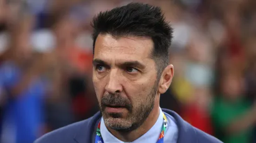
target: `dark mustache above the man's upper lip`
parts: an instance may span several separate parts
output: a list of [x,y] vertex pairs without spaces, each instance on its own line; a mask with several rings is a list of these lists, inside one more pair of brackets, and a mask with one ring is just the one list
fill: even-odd
[[121,94],[106,94],[101,99],[102,111],[110,105],[125,107],[127,110],[132,110],[132,103],[129,99],[121,96]]

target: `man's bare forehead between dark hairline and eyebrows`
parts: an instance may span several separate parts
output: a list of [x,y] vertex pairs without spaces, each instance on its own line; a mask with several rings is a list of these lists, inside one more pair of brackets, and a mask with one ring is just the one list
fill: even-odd
[[104,59],[149,59],[153,50],[153,41],[147,37],[118,37],[99,34],[95,42],[94,58]]

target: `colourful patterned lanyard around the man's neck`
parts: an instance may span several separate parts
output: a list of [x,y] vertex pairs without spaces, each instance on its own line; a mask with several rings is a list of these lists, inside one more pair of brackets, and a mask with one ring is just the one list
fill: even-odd
[[[162,123],[162,130],[161,130],[161,133],[160,133],[156,143],[164,143],[164,135],[165,135],[166,127],[167,127],[167,119],[166,119],[166,116],[164,113],[162,113],[162,115],[164,116],[164,119],[163,119],[164,122]],[[100,122],[99,122],[97,130],[96,130],[95,143],[104,143],[102,136],[100,134]]]

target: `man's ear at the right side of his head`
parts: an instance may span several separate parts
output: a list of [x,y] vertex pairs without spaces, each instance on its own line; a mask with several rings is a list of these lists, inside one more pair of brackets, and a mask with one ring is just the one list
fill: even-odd
[[165,70],[162,72],[162,75],[159,80],[158,92],[160,94],[164,94],[167,91],[167,89],[171,85],[173,75],[174,75],[173,65],[169,64],[169,66],[167,66]]

